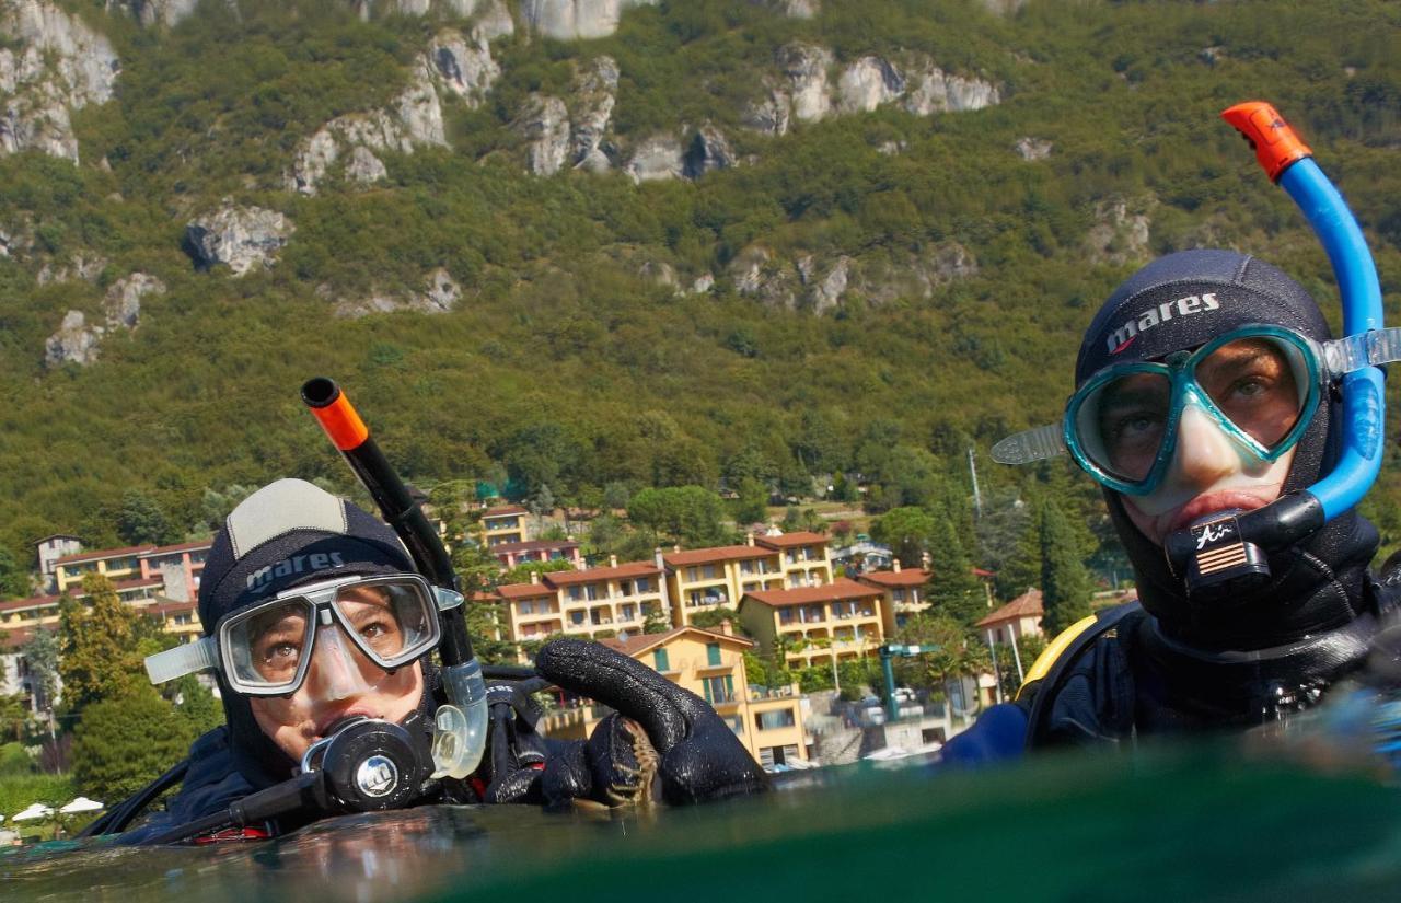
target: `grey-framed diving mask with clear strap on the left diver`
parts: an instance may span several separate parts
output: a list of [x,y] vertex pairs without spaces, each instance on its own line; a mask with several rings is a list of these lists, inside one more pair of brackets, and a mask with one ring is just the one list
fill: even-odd
[[238,693],[287,696],[319,657],[335,678],[326,692],[346,694],[364,682],[363,665],[391,673],[433,650],[439,610],[461,603],[417,574],[319,581],[228,615],[214,636],[149,657],[146,671],[164,683],[217,668]]

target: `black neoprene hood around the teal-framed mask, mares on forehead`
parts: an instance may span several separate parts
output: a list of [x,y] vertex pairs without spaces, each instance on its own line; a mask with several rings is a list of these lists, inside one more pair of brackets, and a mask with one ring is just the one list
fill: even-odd
[[[1161,360],[1240,326],[1282,326],[1316,342],[1331,337],[1318,305],[1276,267],[1234,251],[1196,249],[1160,258],[1124,281],[1086,332],[1076,386],[1110,364]],[[1327,391],[1295,447],[1283,491],[1314,484],[1337,458],[1338,398]],[[1229,603],[1194,603],[1163,547],[1146,538],[1104,490],[1115,532],[1133,564],[1139,601],[1173,640],[1203,648],[1265,648],[1335,629],[1360,610],[1376,531],[1348,511],[1269,557],[1274,580]]]

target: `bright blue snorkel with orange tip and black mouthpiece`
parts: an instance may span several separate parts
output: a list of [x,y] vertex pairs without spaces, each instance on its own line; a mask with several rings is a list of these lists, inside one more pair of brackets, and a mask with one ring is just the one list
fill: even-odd
[[[1328,252],[1342,297],[1342,329],[1363,353],[1383,329],[1381,284],[1348,203],[1313,161],[1313,151],[1274,106],[1237,104],[1222,113],[1254,147],[1255,158],[1299,204]],[[1332,470],[1306,490],[1264,508],[1195,524],[1167,538],[1173,573],[1194,596],[1217,596],[1269,578],[1267,553],[1283,549],[1356,505],[1381,469],[1386,396],[1381,368],[1342,377],[1342,452]]]

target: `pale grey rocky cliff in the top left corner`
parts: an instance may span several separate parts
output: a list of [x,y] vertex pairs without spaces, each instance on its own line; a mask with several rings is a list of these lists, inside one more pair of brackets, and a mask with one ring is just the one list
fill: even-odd
[[0,154],[77,162],[70,112],[112,97],[112,45],[46,0],[0,0]]

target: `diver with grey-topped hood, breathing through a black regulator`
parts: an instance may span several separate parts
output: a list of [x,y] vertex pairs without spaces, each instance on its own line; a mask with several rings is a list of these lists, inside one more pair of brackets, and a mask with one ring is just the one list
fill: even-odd
[[[702,699],[579,640],[548,644],[535,669],[544,678],[537,683],[616,710],[588,741],[537,735],[538,713],[525,694],[492,686],[493,728],[482,766],[464,780],[430,777],[444,696],[429,654],[440,640],[439,610],[454,603],[461,596],[416,574],[394,531],[356,505],[301,480],[258,490],[230,514],[205,564],[205,638],[147,662],[163,680],[213,669],[227,724],[90,833],[122,830],[175,780],[182,787],[167,811],[125,840],[184,837],[181,826],[214,826],[231,806],[275,815],[241,816],[228,830],[220,825],[196,836],[262,837],[338,812],[429,802],[686,804],[768,788],[764,771]],[[364,759],[356,774],[342,776],[349,792],[297,784],[317,770],[318,755],[332,755],[335,738],[353,731],[388,736],[392,755]],[[391,774],[403,780],[385,797]],[[266,802],[268,794],[282,795]]]

